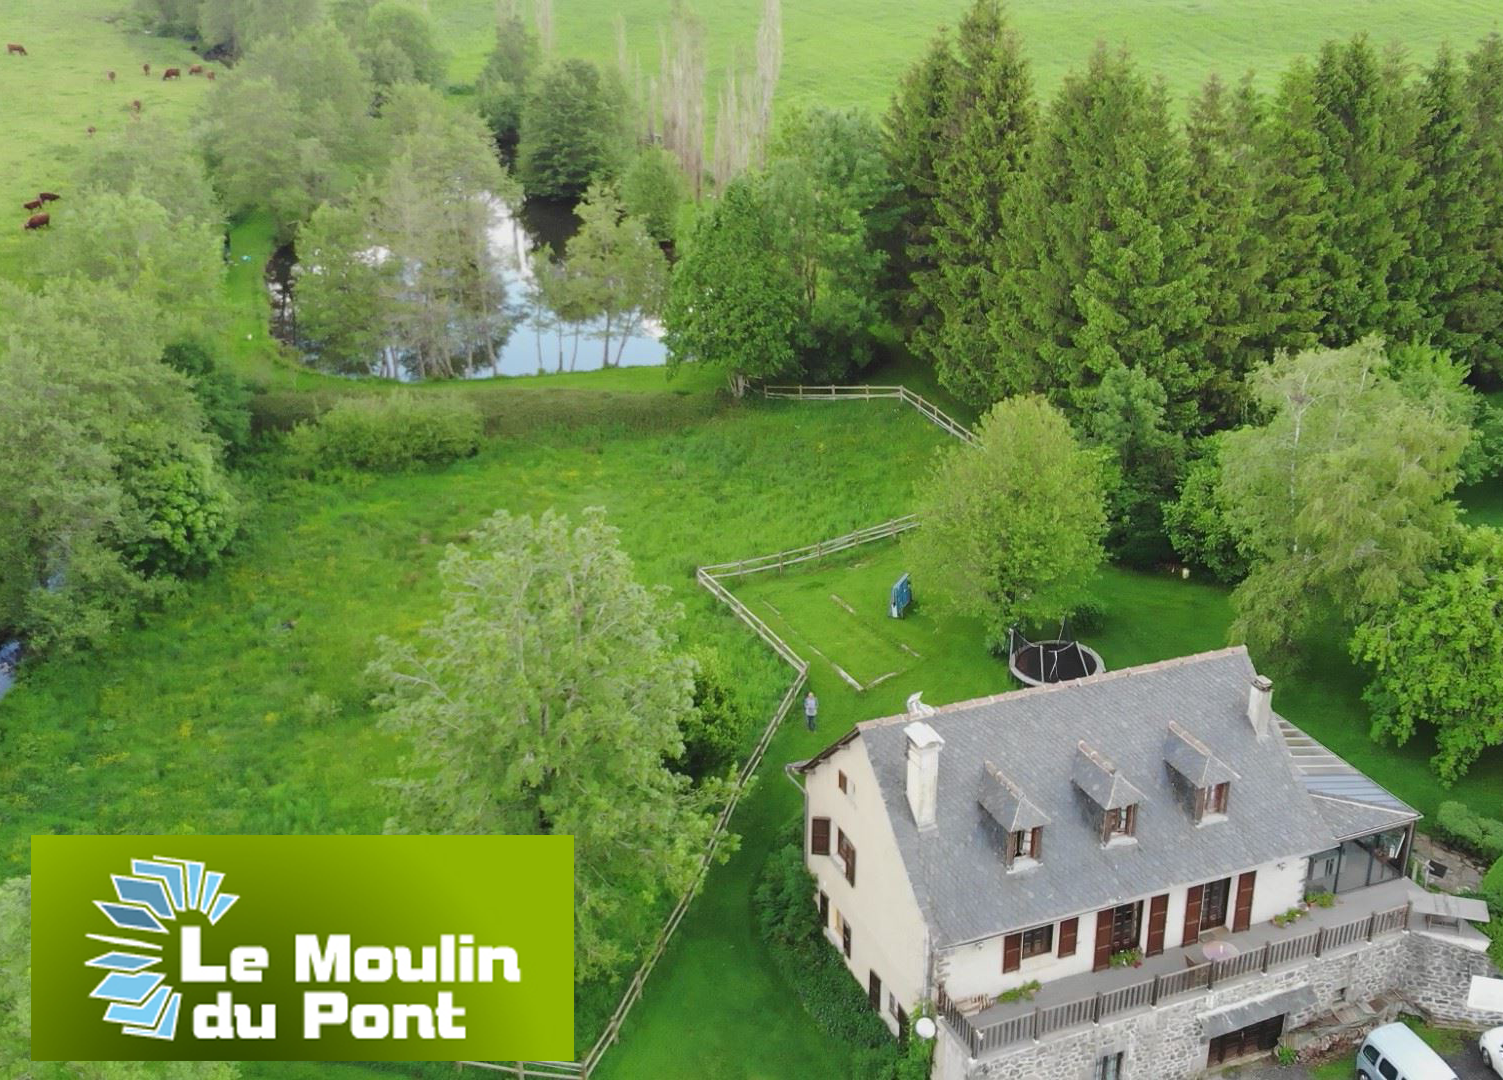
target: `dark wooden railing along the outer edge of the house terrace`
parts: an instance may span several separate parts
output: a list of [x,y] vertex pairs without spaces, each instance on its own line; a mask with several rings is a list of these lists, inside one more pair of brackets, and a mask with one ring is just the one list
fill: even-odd
[[1386,912],[1372,912],[1350,922],[1312,930],[1300,937],[1264,942],[1261,948],[1249,949],[1229,960],[1207,961],[1168,975],[1154,975],[1124,987],[1076,997],[1060,1005],[1034,1008],[989,1024],[974,1023],[974,1018],[965,1015],[959,1005],[950,999],[944,987],[939,987],[938,1012],[960,1041],[969,1047],[971,1056],[980,1057],[990,1050],[999,1050],[1015,1042],[1042,1039],[1054,1032],[1081,1024],[1097,1024],[1121,1012],[1154,1008],[1171,997],[1204,993],[1240,978],[1267,973],[1273,967],[1282,967],[1306,957],[1324,955],[1330,949],[1398,933],[1408,924],[1408,904],[1402,904]]

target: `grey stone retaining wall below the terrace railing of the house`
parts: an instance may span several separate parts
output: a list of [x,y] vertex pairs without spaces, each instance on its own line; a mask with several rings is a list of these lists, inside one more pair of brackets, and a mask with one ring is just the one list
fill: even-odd
[[1311,987],[1315,1005],[1293,1012],[1285,1030],[1302,1027],[1336,1005],[1399,996],[1443,1023],[1497,1023],[1465,1008],[1471,975],[1491,973],[1486,955],[1423,933],[1362,942],[1207,994],[1114,1017],[1090,1027],[1022,1042],[972,1060],[941,1024],[933,1080],[1091,1080],[1097,1062],[1123,1054],[1126,1080],[1189,1080],[1205,1072],[1208,1039],[1201,1015],[1281,990]]

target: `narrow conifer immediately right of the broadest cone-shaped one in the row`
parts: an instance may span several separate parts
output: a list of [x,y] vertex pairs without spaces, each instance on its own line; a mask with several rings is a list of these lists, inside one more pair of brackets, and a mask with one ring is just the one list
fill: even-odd
[[1202,410],[1222,424],[1240,416],[1241,380],[1273,353],[1269,294],[1272,245],[1258,222],[1257,140],[1267,107],[1250,77],[1235,90],[1214,75],[1190,102],[1186,137],[1190,194],[1205,279],[1205,348],[1211,374]]

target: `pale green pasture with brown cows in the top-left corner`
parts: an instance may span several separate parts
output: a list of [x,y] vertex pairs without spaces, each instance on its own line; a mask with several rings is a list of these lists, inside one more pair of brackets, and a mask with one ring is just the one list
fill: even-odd
[[[0,276],[27,273],[32,245],[21,203],[56,191],[53,228],[68,221],[68,188],[95,138],[131,123],[131,102],[171,123],[191,123],[207,80],[162,83],[162,69],[198,62],[182,41],[140,33],[128,0],[0,0],[0,42],[29,56],[0,56]],[[141,65],[152,65],[143,75]],[[213,65],[218,66],[218,65]],[[114,71],[111,83],[105,72]]]

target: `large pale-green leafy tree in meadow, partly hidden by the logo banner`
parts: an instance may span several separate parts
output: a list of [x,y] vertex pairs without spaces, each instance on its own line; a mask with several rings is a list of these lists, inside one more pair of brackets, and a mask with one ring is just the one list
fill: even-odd
[[574,978],[628,961],[693,880],[723,787],[684,748],[694,671],[600,511],[505,511],[440,565],[445,614],[371,676],[407,747],[389,828],[574,837]]

